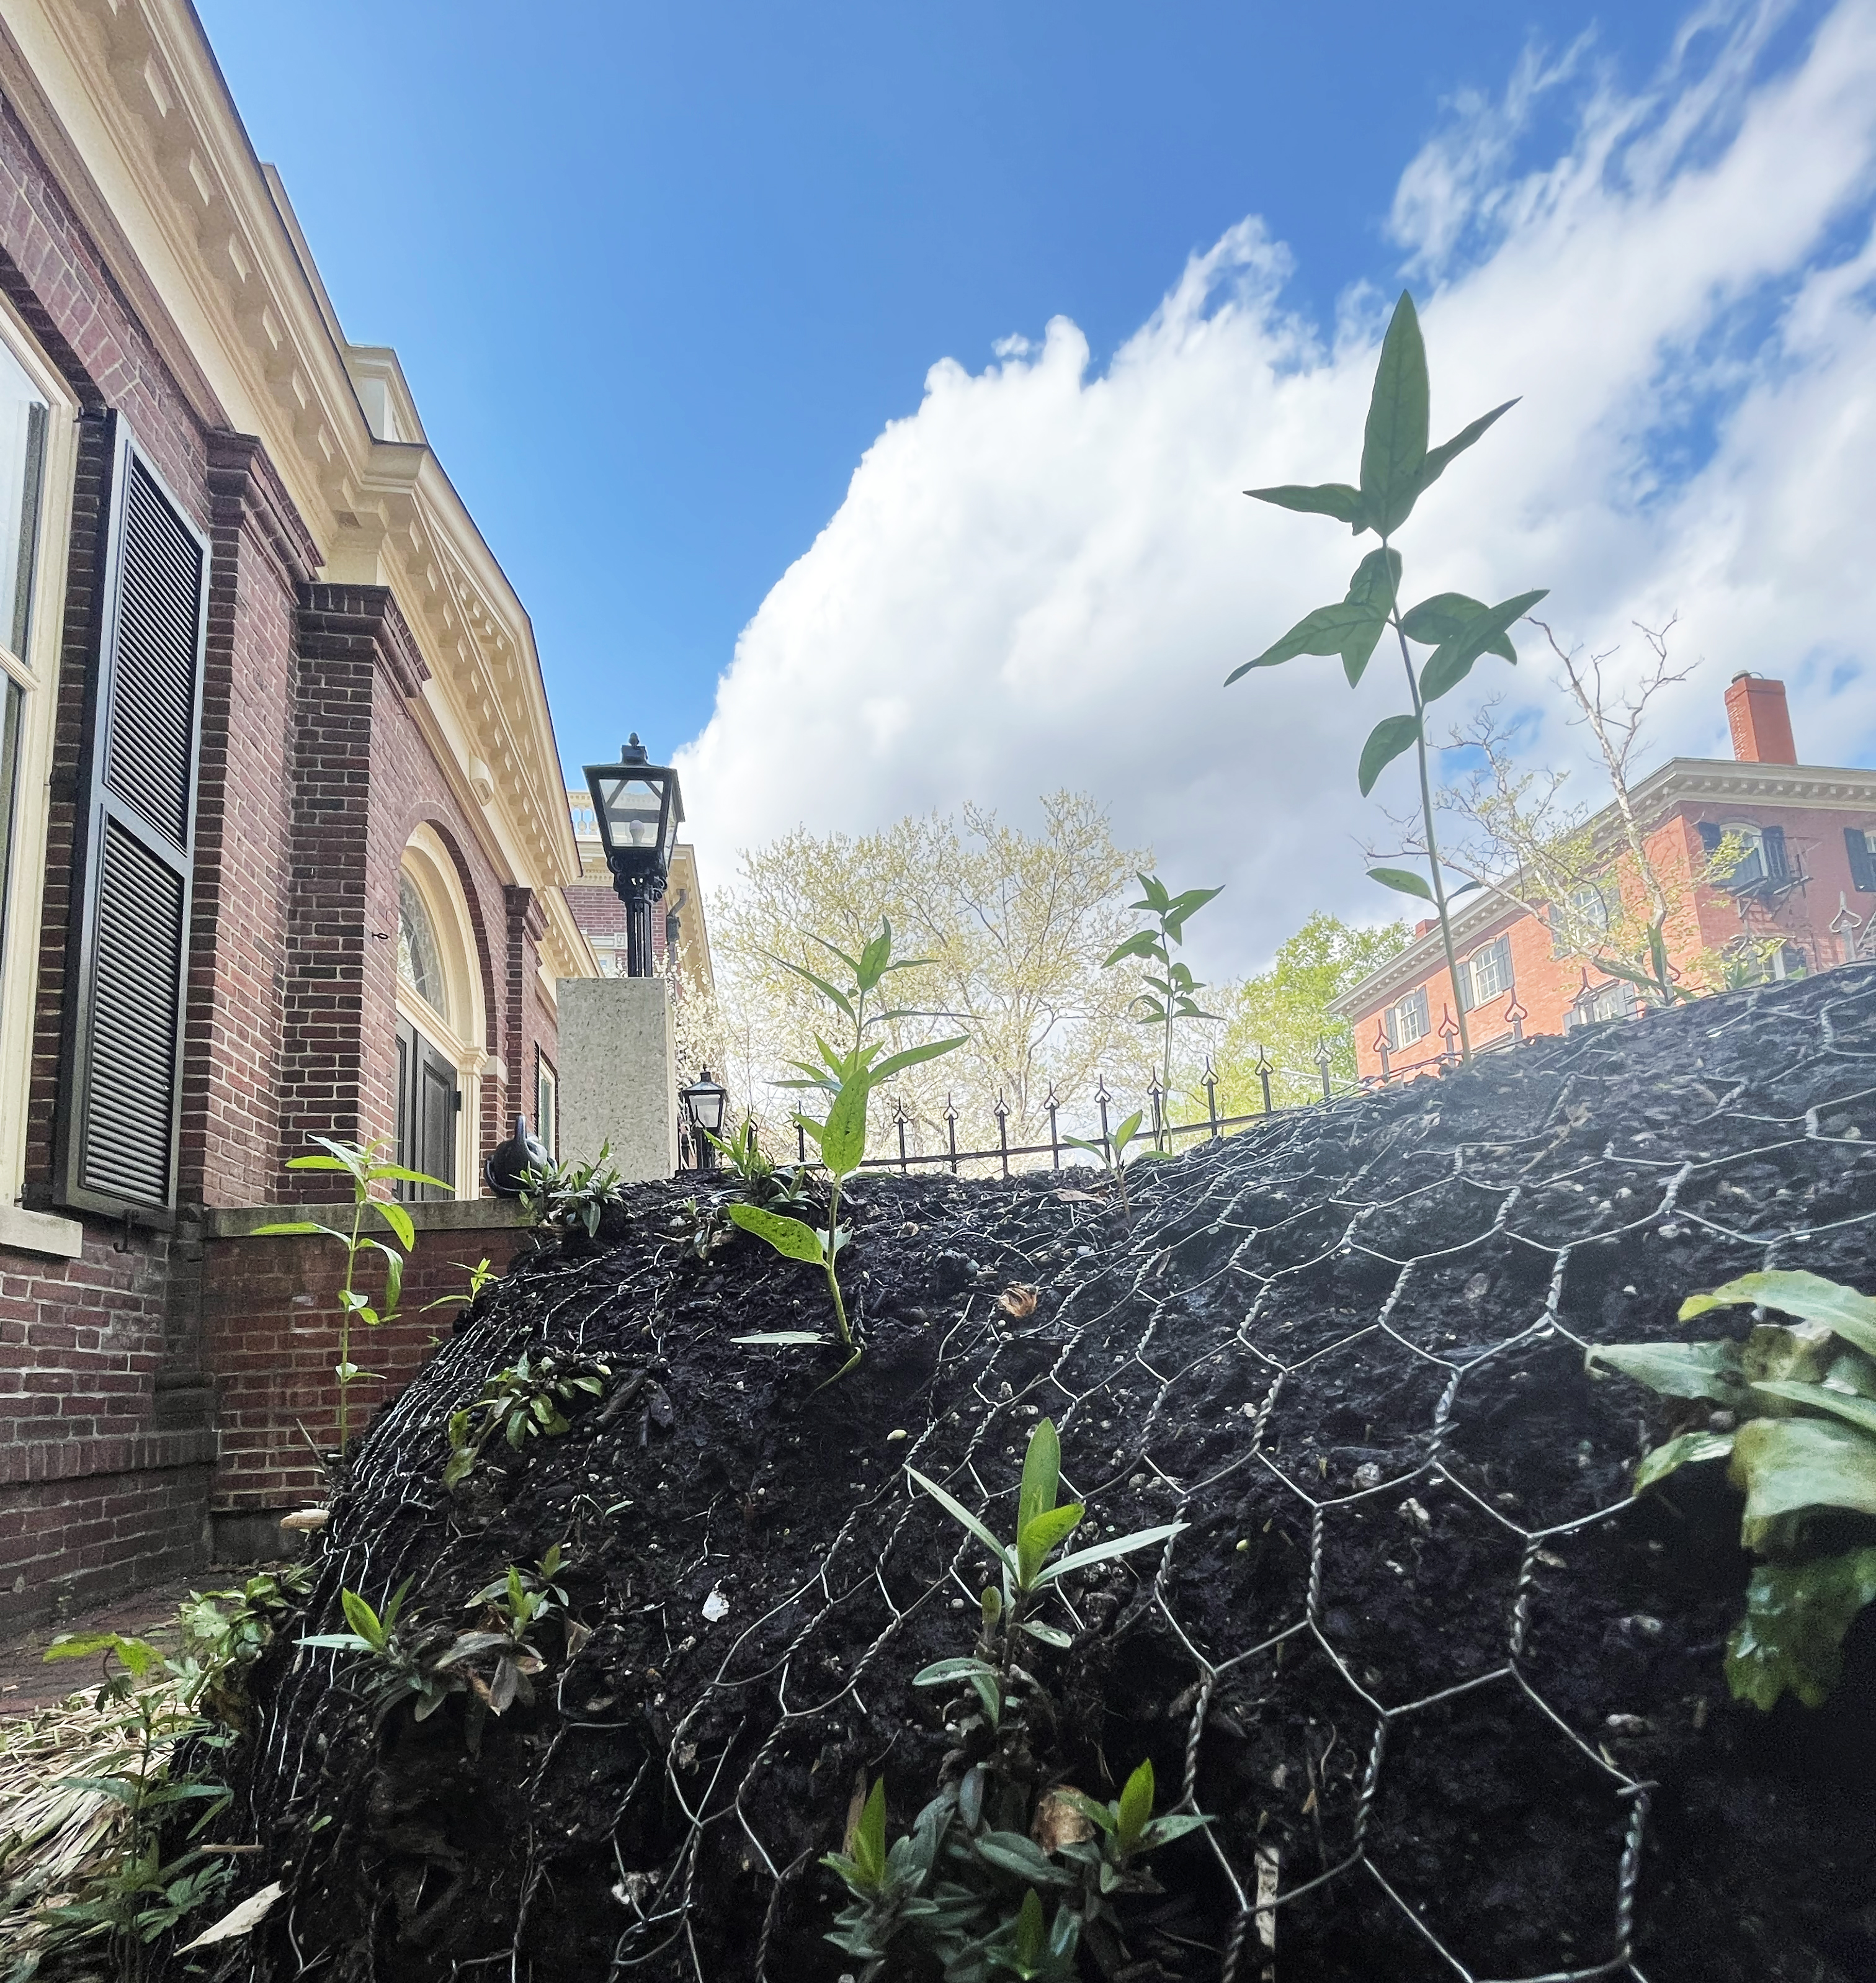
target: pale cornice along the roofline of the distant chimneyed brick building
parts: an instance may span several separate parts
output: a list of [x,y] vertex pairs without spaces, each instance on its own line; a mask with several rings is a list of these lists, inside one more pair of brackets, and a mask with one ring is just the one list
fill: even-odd
[[[1876,771],[1822,763],[1739,763],[1733,758],[1670,758],[1656,765],[1630,793],[1636,815],[1648,831],[1678,805],[1801,805],[1815,811],[1876,813]],[[1584,833],[1610,841],[1618,827],[1614,805],[1586,821]],[[1495,924],[1511,924],[1523,908],[1495,888],[1469,894],[1452,912],[1454,948],[1466,956]],[[1406,950],[1388,958],[1329,1001],[1337,1019],[1356,1019],[1386,1005],[1446,964],[1438,926],[1416,936]]]

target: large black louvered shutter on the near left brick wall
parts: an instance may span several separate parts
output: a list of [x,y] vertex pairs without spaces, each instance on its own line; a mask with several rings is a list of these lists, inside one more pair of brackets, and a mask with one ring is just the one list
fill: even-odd
[[61,1196],[176,1200],[208,539],[111,416],[61,1110]]

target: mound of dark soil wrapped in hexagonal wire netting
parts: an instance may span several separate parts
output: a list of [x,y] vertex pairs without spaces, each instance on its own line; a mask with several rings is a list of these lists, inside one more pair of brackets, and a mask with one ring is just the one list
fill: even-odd
[[[466,1620],[561,1543],[591,1636],[541,1632],[478,1755],[460,1699],[377,1725],[284,1646],[244,1803],[290,1896],[252,1973],[855,1969],[817,1856],[863,1773],[894,1830],[934,1793],[948,1703],[910,1676],[970,1650],[984,1580],[904,1467],[1007,1529],[1047,1414],[1103,1533],[1190,1523],[1071,1582],[1073,1644],[1035,1652],[1063,1779],[1152,1757],[1216,1814],[1162,1854],[1142,1983],[1876,1975],[1876,1620],[1824,1709],[1735,1705],[1737,1499],[1630,1503],[1676,1422],[1583,1372],[1753,1267],[1872,1285],[1872,1146],[1876,972],[1842,970],[1277,1116],[1140,1166],[1130,1227],[1057,1176],[869,1176],[869,1348],[827,1388],[825,1352],[730,1341],[819,1325],[813,1273],[696,1257],[662,1237],[684,1192],[635,1194],[373,1430],[311,1610],[410,1576]],[[648,1378],[446,1493],[448,1412],[531,1344]]]

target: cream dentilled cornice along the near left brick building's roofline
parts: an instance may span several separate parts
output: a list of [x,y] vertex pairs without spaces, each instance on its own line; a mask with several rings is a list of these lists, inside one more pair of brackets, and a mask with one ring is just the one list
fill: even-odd
[[[256,434],[327,575],[391,585],[436,686],[438,732],[506,878],[579,873],[533,629],[422,440],[395,353],[345,343],[297,220],[254,157],[186,0],[0,0],[42,149],[204,426]],[[407,438],[379,440],[357,379]]]

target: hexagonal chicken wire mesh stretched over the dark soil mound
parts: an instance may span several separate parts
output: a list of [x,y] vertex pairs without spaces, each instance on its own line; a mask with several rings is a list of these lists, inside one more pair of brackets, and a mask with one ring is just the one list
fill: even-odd
[[[1275,1975],[1287,1920],[1319,1947],[1352,1918],[1372,1949],[1418,1949],[1428,1973],[1467,1983],[1660,1983],[1638,1914],[1660,1785],[1622,1733],[1642,1717],[1586,1713],[1596,1650],[1573,1638],[1584,1614],[1616,1636],[1660,1628],[1588,1588],[1648,1432],[1638,1396],[1592,1386],[1583,1352],[1664,1333],[1664,1301],[1735,1273],[1850,1271],[1876,1218],[1872,1063],[1876,970],[1846,968],[1586,1027],[1424,1095],[1271,1118],[1142,1170],[1126,1229],[1047,1188],[1057,1180],[948,1186],[950,1210],[900,1225],[892,1257],[940,1283],[962,1257],[966,1285],[926,1321],[930,1360],[890,1432],[855,1406],[851,1438],[823,1420],[803,1454],[803,1434],[771,1418],[769,1458],[750,1446],[742,1493],[706,1469],[686,1495],[674,1450],[627,1426],[543,1489],[541,1543],[571,1523],[581,1547],[613,1547],[645,1580],[627,1571],[621,1592],[615,1576],[555,1676],[551,1733],[518,1765],[506,1860],[482,1868],[506,1933],[434,1973],[531,1973],[543,1890],[565,1910],[595,1856],[615,1910],[609,1975],[801,1973],[777,1955],[791,1910],[813,1925],[831,1914],[813,1866],[839,1842],[853,1769],[932,1777],[948,1737],[920,1717],[910,1672],[938,1628],[954,1640],[942,1650],[968,1650],[988,1573],[902,1469],[1003,1533],[1027,1428],[1047,1414],[1089,1531],[1188,1523],[1156,1561],[1097,1569],[1063,1598],[1081,1660],[1065,1699],[1124,1695],[1134,1729],[1150,1699],[1178,1737],[1180,1803],[1218,1818],[1198,1848],[1210,1916],[1150,1937],[1160,1973]],[[936,1186],[916,1204],[871,1190],[890,1245]],[[867,1257],[880,1285],[863,1303],[904,1311],[886,1251]],[[1011,1279],[1043,1289],[1033,1317],[996,1303]],[[682,1364],[730,1333],[724,1299],[700,1297],[694,1263],[654,1235],[545,1259],[522,1281],[526,1305],[498,1301],[383,1414],[337,1509],[315,1616],[341,1584],[379,1596],[414,1573],[420,1600],[452,1575],[488,1575],[488,1537],[436,1485],[440,1428],[518,1348],[629,1358],[650,1344]],[[718,1372],[736,1356],[779,1366],[775,1352],[712,1354]],[[1626,1448],[1600,1436],[1555,1452],[1545,1400],[1588,1392],[1598,1432],[1626,1426]],[[708,1440],[734,1444],[738,1424],[710,1420]],[[639,1487],[623,1513],[621,1483]],[[758,1499],[799,1511],[760,1531],[752,1565]],[[704,1590],[728,1622],[704,1626]],[[333,1955],[321,1896],[363,1795],[333,1761],[355,1757],[333,1672],[331,1656],[299,1654],[264,1703],[250,1812],[301,1844],[268,1943],[280,1961],[258,1951],[254,1975]],[[1287,1731],[1275,1767],[1253,1723]],[[1467,1810],[1481,1771],[1497,1791]],[[593,1779],[603,1810],[571,1797]],[[1511,1846],[1493,1834],[1505,1781],[1521,1850],[1559,1868],[1577,1912],[1467,1904],[1458,1933],[1456,1878],[1489,1886]],[[726,1914],[754,1927],[728,1947]],[[335,1973],[377,1973],[381,1933],[367,1927],[357,1967]],[[843,1967],[823,1959],[827,1975]]]

